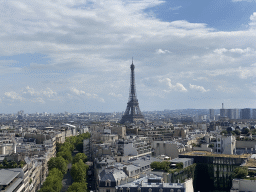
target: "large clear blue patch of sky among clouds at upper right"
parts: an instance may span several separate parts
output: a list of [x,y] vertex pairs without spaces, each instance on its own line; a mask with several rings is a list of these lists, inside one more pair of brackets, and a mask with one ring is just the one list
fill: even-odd
[[256,9],[250,1],[231,0],[171,0],[147,9],[162,21],[186,20],[205,23],[215,30],[233,31],[248,28],[250,16]]

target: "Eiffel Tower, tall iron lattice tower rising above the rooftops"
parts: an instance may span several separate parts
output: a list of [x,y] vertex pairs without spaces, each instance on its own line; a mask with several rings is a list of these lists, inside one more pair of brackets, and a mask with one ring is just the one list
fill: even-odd
[[120,121],[121,124],[124,124],[126,122],[129,122],[129,123],[136,123],[139,121],[144,122],[144,116],[141,114],[141,111],[139,108],[139,102],[136,97],[134,68],[135,66],[132,60],[130,94],[129,94],[129,99],[127,103],[127,108]]

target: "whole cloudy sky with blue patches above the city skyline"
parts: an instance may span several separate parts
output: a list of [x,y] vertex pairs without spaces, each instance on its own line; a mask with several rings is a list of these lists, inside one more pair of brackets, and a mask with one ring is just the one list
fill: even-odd
[[0,113],[256,108],[254,0],[2,0]]

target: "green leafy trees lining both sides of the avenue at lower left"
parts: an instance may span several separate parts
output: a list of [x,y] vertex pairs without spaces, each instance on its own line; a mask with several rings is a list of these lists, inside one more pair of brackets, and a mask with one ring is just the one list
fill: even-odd
[[[56,150],[57,154],[56,157],[52,157],[48,161],[48,170],[49,174],[42,186],[42,188],[39,190],[39,192],[59,192],[62,189],[62,179],[64,174],[67,173],[68,170],[68,163],[72,162],[72,152],[79,148],[78,146],[81,146],[83,144],[83,140],[90,137],[89,133],[84,133],[79,136],[72,136],[69,138],[66,138],[65,143],[56,144]],[[79,150],[83,150],[81,147]],[[87,190],[87,184],[86,184],[86,171],[87,167],[84,164],[84,162],[87,161],[87,157],[83,153],[78,153],[74,159],[73,159],[73,166],[71,168],[71,175],[74,180],[74,183],[69,187],[69,192],[79,191],[82,192],[80,189]],[[77,164],[79,163],[79,164]],[[74,166],[75,165],[75,166]],[[80,168],[81,166],[81,168]],[[77,171],[79,170],[79,171]],[[82,170],[82,171],[80,171]],[[74,176],[73,176],[74,175]],[[79,184],[77,182],[80,182],[80,180],[75,179],[76,177],[84,178],[84,183]],[[77,189],[77,190],[76,190]],[[83,191],[85,191],[83,190]]]

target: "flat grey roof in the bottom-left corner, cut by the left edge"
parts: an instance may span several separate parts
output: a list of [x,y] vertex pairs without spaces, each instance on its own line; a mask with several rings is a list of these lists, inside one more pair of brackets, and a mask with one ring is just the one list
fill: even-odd
[[22,171],[22,169],[1,169],[0,185],[9,185]]

